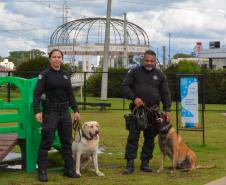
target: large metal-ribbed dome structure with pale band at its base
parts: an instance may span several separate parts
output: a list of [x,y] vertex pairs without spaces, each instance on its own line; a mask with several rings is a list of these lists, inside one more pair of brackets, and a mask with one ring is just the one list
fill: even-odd
[[[59,26],[51,35],[48,50],[61,49],[65,55],[103,55],[106,18],[83,18]],[[127,40],[124,39],[126,30]],[[110,56],[143,54],[149,46],[147,33],[138,25],[121,19],[110,21]]]

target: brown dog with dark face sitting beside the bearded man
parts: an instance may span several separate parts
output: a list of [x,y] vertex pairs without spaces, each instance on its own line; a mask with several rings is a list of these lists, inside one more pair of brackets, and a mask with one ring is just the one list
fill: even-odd
[[198,168],[209,169],[214,168],[216,165],[198,165],[197,157],[182,140],[181,136],[177,134],[172,124],[166,121],[165,115],[161,114],[156,120],[159,130],[159,146],[161,149],[161,163],[157,172],[163,170],[163,163],[165,156],[168,155],[172,160],[174,173],[176,169],[183,169],[183,171],[194,170]]

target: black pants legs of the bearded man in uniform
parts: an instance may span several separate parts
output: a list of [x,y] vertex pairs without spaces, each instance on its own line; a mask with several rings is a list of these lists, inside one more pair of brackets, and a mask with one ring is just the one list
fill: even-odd
[[[153,157],[152,154],[154,150],[154,139],[158,133],[154,119],[155,117],[153,117],[152,114],[148,114],[149,124],[148,127],[143,131],[144,143],[140,157],[142,161],[149,161]],[[136,128],[136,124],[132,124],[130,126],[125,149],[125,159],[129,160],[137,158],[140,133],[141,131]]]

